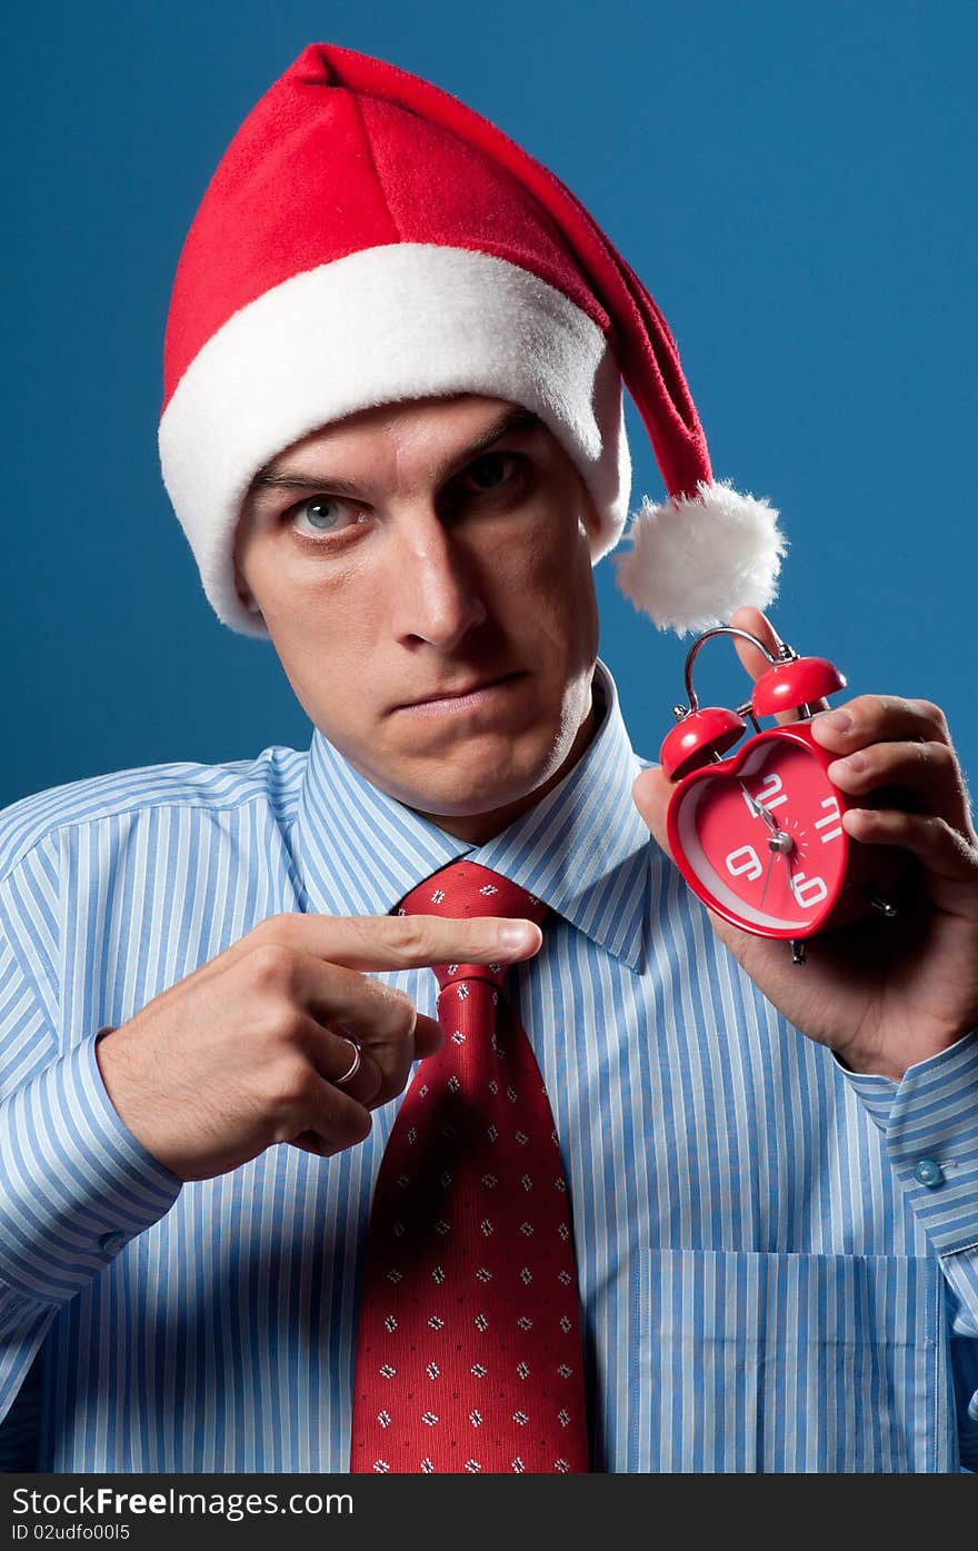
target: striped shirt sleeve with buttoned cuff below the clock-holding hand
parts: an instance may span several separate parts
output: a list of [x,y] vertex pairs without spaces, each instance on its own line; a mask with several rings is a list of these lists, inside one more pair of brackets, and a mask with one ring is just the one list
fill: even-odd
[[961,1449],[978,1469],[978,1030],[908,1067],[899,1083],[835,1064],[882,1131],[949,1284]]

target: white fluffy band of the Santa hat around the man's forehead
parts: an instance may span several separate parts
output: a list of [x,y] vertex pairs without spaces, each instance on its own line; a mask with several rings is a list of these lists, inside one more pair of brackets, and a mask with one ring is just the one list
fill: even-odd
[[198,351],[160,422],[163,481],[219,617],[267,637],[234,586],[254,475],[319,427],[398,399],[474,392],[532,409],[581,472],[597,563],[628,513],[618,364],[600,327],[505,259],[386,244],[294,275]]

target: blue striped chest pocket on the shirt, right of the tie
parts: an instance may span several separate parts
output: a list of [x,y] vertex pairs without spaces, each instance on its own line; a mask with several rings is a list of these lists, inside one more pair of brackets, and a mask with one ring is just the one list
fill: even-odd
[[629,1470],[958,1470],[936,1259],[640,1250]]

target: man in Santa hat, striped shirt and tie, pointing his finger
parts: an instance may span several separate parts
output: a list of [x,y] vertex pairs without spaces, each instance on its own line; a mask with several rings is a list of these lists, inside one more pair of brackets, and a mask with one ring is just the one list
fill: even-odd
[[773,513],[713,482],[662,318],[563,185],[324,45],[242,126],[174,288],[163,468],[315,735],[3,816],[8,1463],[973,1464],[950,735],[890,695],[817,723],[849,833],[916,859],[899,921],[798,968],[699,906],[597,658],[622,374],[668,490],[629,596],[773,648]]

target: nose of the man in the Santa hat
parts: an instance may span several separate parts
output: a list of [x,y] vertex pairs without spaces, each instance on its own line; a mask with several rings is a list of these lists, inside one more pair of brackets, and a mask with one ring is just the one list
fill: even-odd
[[391,617],[401,641],[451,651],[488,617],[471,552],[431,510],[405,515],[391,588]]

